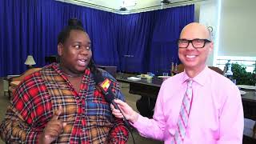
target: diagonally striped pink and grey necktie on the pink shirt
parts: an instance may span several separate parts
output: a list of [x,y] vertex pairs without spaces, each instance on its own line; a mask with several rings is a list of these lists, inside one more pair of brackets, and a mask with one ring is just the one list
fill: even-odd
[[177,143],[180,144],[183,142],[186,134],[186,126],[187,122],[190,116],[190,106],[191,106],[191,101],[192,101],[192,82],[193,80],[189,79],[187,81],[187,89],[186,89],[186,94],[183,97],[182,100],[182,106],[181,110],[178,115],[178,122],[177,122],[177,127],[178,129],[175,132],[174,139],[171,143]]

